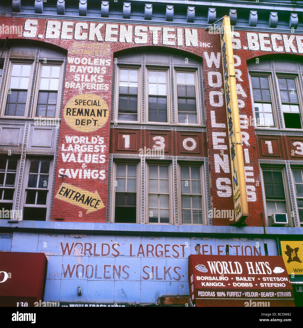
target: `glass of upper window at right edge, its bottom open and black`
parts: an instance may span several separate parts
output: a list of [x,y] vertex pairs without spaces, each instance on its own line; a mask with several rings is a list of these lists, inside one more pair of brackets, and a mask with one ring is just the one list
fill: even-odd
[[301,129],[301,112],[295,78],[279,77],[285,128]]

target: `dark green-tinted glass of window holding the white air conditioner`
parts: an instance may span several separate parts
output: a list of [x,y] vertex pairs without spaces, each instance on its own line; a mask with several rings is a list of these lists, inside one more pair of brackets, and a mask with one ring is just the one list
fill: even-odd
[[263,170],[267,216],[273,213],[287,213],[281,170]]

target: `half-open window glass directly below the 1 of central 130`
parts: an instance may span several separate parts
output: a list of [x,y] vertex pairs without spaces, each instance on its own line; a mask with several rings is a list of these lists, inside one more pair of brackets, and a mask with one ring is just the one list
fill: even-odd
[[116,164],[115,218],[116,223],[137,221],[137,165]]

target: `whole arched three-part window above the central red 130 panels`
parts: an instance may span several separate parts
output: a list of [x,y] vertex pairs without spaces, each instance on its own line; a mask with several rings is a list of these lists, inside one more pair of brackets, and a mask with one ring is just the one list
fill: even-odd
[[136,53],[115,58],[117,122],[201,125],[201,63],[172,54]]

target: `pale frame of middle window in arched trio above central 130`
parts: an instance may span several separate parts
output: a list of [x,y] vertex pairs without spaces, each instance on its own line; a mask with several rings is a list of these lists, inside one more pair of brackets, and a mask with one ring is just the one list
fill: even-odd
[[[146,76],[146,81],[145,81],[145,117],[146,117],[146,123],[148,124],[172,124],[172,100],[171,100],[171,83],[170,83],[170,68],[166,66],[146,66],[145,67],[145,76]],[[149,120],[149,88],[148,88],[148,72],[153,71],[153,72],[165,72],[166,73],[166,96],[167,96],[167,122],[156,122],[156,121],[150,121]],[[142,92],[142,91],[141,91]],[[156,95],[155,95],[156,96]]]

